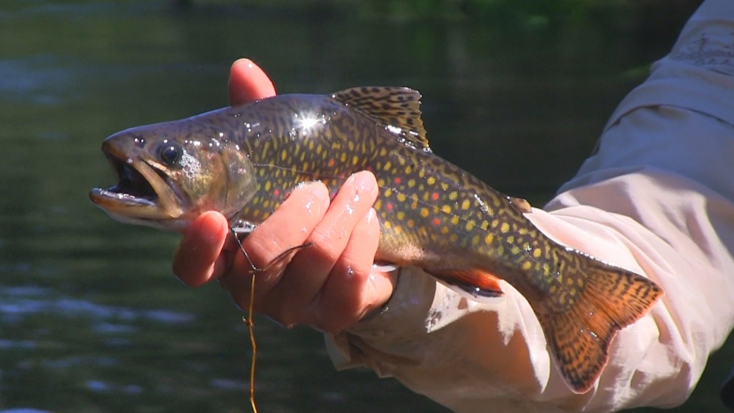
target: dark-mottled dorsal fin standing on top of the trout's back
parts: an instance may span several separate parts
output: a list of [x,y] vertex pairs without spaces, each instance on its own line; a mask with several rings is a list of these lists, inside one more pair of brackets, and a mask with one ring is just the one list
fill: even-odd
[[385,125],[405,143],[431,151],[421,120],[421,93],[417,90],[407,87],[352,87],[331,97]]

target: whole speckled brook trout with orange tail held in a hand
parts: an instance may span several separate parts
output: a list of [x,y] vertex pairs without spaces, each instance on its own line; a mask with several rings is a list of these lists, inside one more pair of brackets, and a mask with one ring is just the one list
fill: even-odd
[[556,243],[527,218],[526,201],[434,154],[420,103],[407,87],[354,87],[126,129],[102,144],[118,184],[90,198],[112,218],[167,231],[208,210],[252,229],[302,182],[323,182],[333,197],[352,173],[370,170],[376,262],[421,267],[472,299],[499,297],[508,282],[533,309],[568,387],[588,392],[617,331],[663,290]]

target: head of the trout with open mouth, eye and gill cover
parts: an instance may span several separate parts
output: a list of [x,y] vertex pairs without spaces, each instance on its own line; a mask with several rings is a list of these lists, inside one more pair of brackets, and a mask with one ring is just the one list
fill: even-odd
[[232,218],[257,190],[247,154],[211,126],[139,126],[108,137],[102,151],[119,182],[90,198],[123,223],[182,232],[205,211]]

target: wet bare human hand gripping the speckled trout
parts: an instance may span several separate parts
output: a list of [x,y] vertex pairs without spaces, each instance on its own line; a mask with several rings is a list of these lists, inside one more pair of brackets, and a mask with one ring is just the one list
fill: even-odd
[[[250,60],[232,65],[229,87],[233,105],[275,95],[270,79]],[[255,311],[285,326],[339,331],[385,304],[396,280],[372,271],[379,243],[379,223],[371,207],[377,193],[369,172],[350,176],[333,201],[320,182],[294,190],[242,245],[257,267],[292,246],[313,245],[255,274]],[[191,286],[219,279],[241,309],[249,306],[252,268],[219,212],[205,212],[189,226],[173,272]]]

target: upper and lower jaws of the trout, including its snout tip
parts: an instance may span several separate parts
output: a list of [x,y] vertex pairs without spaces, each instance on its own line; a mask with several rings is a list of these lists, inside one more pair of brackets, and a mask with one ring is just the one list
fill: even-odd
[[[120,222],[181,231],[191,218],[184,214],[186,197],[158,162],[136,157],[124,140],[114,136],[102,145],[119,182],[107,189],[94,188],[90,199]],[[132,153],[131,153],[132,152]]]

